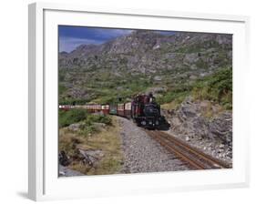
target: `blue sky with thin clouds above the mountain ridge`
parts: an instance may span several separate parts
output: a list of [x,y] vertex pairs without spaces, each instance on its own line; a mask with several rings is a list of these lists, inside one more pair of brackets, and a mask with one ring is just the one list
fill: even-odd
[[[71,52],[77,46],[99,45],[118,36],[125,36],[132,32],[129,29],[97,28],[86,26],[58,26],[59,51]],[[174,32],[160,32],[171,35]]]

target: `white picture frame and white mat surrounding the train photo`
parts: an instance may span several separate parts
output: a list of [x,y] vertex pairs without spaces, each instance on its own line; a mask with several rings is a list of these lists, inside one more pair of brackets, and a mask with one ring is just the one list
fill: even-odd
[[[29,12],[30,199],[74,199],[249,185],[249,138],[242,83],[249,17],[35,3]],[[57,25],[143,28],[233,35],[233,168],[150,174],[57,177]],[[56,155],[53,156],[53,155]]]

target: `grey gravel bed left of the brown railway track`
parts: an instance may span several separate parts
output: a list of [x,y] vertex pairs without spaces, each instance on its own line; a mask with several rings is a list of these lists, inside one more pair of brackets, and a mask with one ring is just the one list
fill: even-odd
[[118,117],[124,151],[122,173],[188,170],[182,161],[170,154],[142,128],[123,117]]

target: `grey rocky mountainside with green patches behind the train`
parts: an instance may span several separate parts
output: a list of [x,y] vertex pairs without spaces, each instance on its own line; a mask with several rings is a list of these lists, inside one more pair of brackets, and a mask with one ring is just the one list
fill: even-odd
[[78,46],[59,53],[60,101],[106,103],[156,87],[163,92],[189,86],[231,66],[231,42],[225,34],[139,30],[102,45]]

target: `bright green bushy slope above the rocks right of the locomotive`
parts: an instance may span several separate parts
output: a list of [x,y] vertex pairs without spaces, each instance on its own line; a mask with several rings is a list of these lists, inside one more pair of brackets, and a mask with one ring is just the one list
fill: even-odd
[[185,97],[195,100],[210,100],[226,109],[232,108],[232,69],[221,68],[216,73],[205,76],[191,85],[183,85],[169,89],[157,98],[160,104],[172,103],[172,107],[179,105]]

